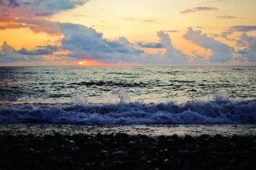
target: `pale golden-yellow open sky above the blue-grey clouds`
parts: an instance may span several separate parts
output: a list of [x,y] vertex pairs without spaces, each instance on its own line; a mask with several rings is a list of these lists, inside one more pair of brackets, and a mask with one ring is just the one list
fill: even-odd
[[[200,11],[182,14],[180,11],[200,6],[218,7],[218,11]],[[256,24],[256,1],[119,1],[96,0],[76,9],[59,13],[53,20],[94,27],[104,37],[115,39],[125,36],[131,41],[156,40],[160,30],[185,32],[188,27],[204,27],[207,33],[220,33],[228,26]],[[250,12],[248,12],[250,11]],[[232,15],[238,19],[220,19]],[[175,33],[179,37],[181,33]],[[256,35],[256,32],[253,33]],[[139,38],[138,38],[139,37]],[[175,36],[174,36],[175,37]]]

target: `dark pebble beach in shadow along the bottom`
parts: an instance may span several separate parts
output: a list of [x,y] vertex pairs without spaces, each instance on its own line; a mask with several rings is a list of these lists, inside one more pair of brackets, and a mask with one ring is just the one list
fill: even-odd
[[0,169],[256,169],[256,136],[0,134]]

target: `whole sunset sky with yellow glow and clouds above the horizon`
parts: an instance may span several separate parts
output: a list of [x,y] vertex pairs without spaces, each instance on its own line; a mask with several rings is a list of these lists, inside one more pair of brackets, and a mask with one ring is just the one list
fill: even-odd
[[255,66],[255,7],[255,0],[0,0],[0,66]]

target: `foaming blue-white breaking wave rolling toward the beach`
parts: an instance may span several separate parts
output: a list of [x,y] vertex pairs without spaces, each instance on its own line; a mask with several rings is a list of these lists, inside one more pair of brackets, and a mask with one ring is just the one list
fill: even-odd
[[256,101],[187,103],[1,104],[0,122],[63,124],[236,124],[256,123]]

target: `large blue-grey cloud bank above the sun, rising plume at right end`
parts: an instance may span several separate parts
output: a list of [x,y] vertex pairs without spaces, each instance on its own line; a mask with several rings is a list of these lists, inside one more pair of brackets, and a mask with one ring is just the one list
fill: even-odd
[[[174,65],[187,63],[190,56],[176,50],[170,37],[164,32],[158,32],[160,42],[139,42],[133,44],[125,37],[110,41],[103,38],[101,33],[93,28],[79,24],[59,24],[61,32],[65,35],[62,40],[63,50],[69,50],[69,57],[79,59],[97,60],[105,63],[137,63],[141,65]],[[146,48],[166,48],[166,52],[150,54],[137,49],[136,46]]]

